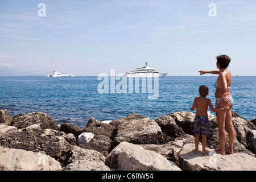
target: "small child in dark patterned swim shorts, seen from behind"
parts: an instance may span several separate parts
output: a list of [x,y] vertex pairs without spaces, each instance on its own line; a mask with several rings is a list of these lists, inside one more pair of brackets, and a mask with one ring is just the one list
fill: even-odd
[[220,109],[214,109],[212,106],[212,102],[210,102],[210,99],[205,97],[208,95],[208,87],[205,85],[201,85],[199,87],[199,94],[200,94],[200,97],[195,98],[193,106],[190,109],[191,111],[193,111],[196,108],[196,118],[195,118],[194,127],[193,127],[193,133],[195,133],[196,148],[193,151],[196,154],[198,154],[199,137],[201,134],[202,136],[201,143],[203,146],[202,154],[208,154],[209,151],[205,150],[206,143],[207,143],[207,135],[210,134],[209,120],[208,120],[208,114],[207,114],[208,106],[210,110],[213,112],[229,109],[229,106],[225,106]]

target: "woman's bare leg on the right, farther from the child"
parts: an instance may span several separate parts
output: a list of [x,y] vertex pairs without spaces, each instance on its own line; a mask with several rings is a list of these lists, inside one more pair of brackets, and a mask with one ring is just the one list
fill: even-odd
[[229,154],[233,154],[233,144],[234,144],[234,134],[235,134],[233,123],[232,123],[231,107],[230,109],[226,110],[226,121],[225,121],[226,127],[228,129],[228,134],[229,134],[229,147],[226,149],[226,153],[229,153]]

